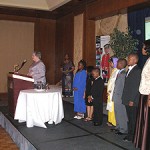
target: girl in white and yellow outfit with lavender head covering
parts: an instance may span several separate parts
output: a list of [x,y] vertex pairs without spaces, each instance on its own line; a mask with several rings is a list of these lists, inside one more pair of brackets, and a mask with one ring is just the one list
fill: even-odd
[[111,76],[108,81],[108,86],[107,86],[107,110],[108,110],[108,126],[116,126],[116,118],[115,118],[115,112],[114,112],[114,102],[112,100],[113,96],[113,91],[114,91],[114,86],[115,86],[115,81],[117,74],[119,70],[117,69],[117,61],[118,58],[116,57],[111,57],[109,62],[110,62],[110,67],[112,68]]

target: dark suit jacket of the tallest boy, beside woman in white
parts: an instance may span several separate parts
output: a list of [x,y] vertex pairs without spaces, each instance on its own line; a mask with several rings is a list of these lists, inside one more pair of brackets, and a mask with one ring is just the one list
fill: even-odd
[[141,81],[141,69],[136,65],[125,78],[125,84],[122,94],[122,102],[128,106],[129,101],[134,102],[134,106],[138,106],[139,102],[139,85]]

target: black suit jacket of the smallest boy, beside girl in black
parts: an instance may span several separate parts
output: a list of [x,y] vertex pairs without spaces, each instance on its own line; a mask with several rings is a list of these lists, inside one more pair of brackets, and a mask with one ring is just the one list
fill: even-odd
[[93,97],[93,102],[102,103],[103,102],[103,91],[104,91],[104,81],[101,77],[94,80],[91,87],[91,95]]

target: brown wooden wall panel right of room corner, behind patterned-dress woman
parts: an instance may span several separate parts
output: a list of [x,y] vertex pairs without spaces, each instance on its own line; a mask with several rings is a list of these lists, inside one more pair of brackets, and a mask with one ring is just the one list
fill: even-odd
[[56,78],[55,81],[61,80],[60,67],[63,63],[64,55],[69,54],[73,58],[74,48],[74,16],[67,15],[57,20],[56,22],[56,51],[55,51],[55,66]]

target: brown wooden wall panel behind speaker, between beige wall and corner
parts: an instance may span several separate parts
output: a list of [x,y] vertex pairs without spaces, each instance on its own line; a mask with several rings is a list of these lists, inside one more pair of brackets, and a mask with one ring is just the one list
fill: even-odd
[[42,52],[42,60],[46,65],[46,78],[49,84],[55,83],[55,32],[55,20],[36,20],[34,47],[35,50]]

